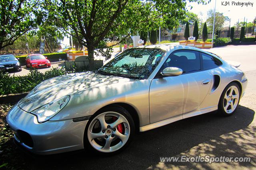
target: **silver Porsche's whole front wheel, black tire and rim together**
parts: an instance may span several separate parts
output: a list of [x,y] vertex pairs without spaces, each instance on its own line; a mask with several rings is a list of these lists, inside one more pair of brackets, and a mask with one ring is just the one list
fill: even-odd
[[100,155],[116,154],[129,145],[134,132],[134,121],[126,109],[104,108],[92,115],[86,125],[84,148]]

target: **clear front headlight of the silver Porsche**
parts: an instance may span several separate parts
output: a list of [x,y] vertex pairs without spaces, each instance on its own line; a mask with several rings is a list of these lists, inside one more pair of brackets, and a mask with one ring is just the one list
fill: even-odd
[[45,104],[44,106],[38,107],[37,109],[31,111],[31,113],[37,116],[39,123],[48,121],[54,115],[56,115],[63,107],[66,106],[70,99],[70,96],[64,96],[58,100]]

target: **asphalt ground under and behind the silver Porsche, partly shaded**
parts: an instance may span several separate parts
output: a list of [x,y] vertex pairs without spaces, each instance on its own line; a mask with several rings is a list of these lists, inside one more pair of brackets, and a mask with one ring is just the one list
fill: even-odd
[[[238,50],[239,49],[239,50]],[[191,117],[138,133],[120,154],[96,156],[71,152],[52,156],[20,153],[26,169],[256,169],[256,46],[228,46],[210,51],[223,59],[241,62],[249,80],[236,113],[221,117],[216,112]],[[250,157],[250,162],[161,162],[173,156]]]

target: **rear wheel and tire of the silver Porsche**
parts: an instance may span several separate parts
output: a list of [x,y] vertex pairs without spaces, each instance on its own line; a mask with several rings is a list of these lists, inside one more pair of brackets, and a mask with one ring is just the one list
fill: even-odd
[[240,102],[240,88],[232,82],[223,90],[218,104],[218,113],[223,116],[230,116],[236,112]]

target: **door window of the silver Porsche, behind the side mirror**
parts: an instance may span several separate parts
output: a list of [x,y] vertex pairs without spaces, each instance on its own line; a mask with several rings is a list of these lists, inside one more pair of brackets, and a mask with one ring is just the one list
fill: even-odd
[[181,68],[183,73],[198,71],[201,69],[199,52],[191,50],[175,51],[165,61],[161,71],[166,67]]

